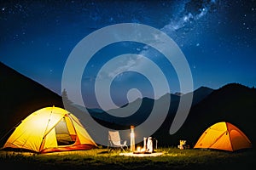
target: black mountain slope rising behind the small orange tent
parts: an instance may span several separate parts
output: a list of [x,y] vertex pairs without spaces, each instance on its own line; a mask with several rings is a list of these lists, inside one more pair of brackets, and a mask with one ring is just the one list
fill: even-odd
[[[238,83],[230,83],[214,90],[194,105],[189,116],[177,133],[168,135],[169,124],[163,124],[154,135],[162,144],[178,144],[187,139],[194,146],[201,134],[216,122],[230,122],[239,127],[253,144],[256,142],[256,89]],[[166,121],[168,122],[168,120]],[[172,122],[172,120],[169,120]],[[162,138],[165,136],[165,138]]]

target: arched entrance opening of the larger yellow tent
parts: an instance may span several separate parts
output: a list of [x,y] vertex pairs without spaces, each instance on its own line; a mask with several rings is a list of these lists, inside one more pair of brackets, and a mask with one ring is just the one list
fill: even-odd
[[61,118],[55,126],[55,135],[58,145],[71,145],[76,141],[76,133],[68,116]]

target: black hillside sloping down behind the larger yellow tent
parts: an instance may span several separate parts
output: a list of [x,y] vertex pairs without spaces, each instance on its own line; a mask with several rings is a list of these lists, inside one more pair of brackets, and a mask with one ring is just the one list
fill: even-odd
[[60,95],[2,62],[0,62],[0,82],[0,136],[3,138],[1,145],[9,131],[33,111],[52,105],[62,107]]

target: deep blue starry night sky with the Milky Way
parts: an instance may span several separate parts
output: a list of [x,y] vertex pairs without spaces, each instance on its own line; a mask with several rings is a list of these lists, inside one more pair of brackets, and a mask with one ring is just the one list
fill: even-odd
[[[0,60],[61,94],[62,71],[80,40],[104,26],[140,23],[172,37],[188,60],[195,89],[216,89],[230,82],[256,87],[255,14],[253,0],[1,1]],[[124,42],[96,54],[82,81],[89,106],[96,104],[93,83],[104,62],[117,54],[140,54],[142,48],[143,44]],[[154,49],[147,55],[154,56],[165,72],[171,93],[178,92],[172,65]],[[131,60],[126,66],[134,63]],[[123,101],[127,91],[135,87],[143,96],[152,97],[147,79],[127,72],[114,80],[113,100]]]

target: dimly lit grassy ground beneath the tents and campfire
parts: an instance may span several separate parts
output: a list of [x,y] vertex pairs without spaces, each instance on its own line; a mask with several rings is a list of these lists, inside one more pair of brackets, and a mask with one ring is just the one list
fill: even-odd
[[0,151],[0,166],[8,169],[251,169],[256,167],[255,150],[179,150],[160,148],[156,157],[119,156],[120,150],[107,149],[32,154]]

